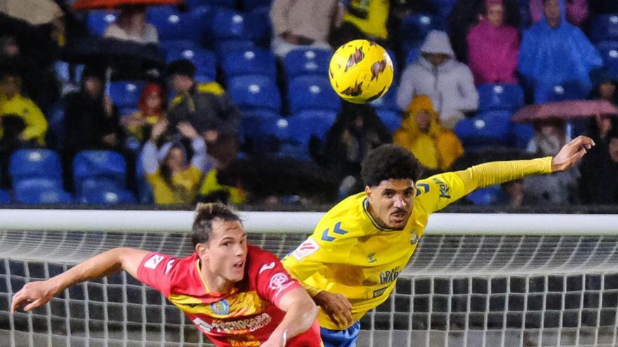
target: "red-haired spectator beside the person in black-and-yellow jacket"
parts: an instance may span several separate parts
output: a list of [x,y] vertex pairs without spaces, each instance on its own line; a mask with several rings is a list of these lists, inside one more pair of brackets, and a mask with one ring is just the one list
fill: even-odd
[[164,118],[165,100],[163,88],[157,83],[148,83],[142,90],[139,110],[123,117],[126,132],[139,142],[149,138],[152,125]]

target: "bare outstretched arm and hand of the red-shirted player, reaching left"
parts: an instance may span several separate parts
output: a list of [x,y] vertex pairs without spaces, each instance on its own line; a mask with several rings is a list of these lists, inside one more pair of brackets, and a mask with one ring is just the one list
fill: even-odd
[[94,280],[121,270],[136,277],[138,266],[146,254],[148,252],[145,250],[114,248],[87,259],[48,280],[26,283],[19,292],[13,295],[11,312],[15,313],[20,306],[25,306],[25,311],[32,311],[46,304],[55,294],[85,280]]

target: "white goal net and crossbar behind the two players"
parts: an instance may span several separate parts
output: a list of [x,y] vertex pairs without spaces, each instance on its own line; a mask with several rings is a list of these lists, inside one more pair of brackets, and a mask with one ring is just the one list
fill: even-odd
[[[70,225],[50,217],[60,212],[20,213],[40,225],[0,212],[2,346],[210,346],[175,306],[124,272],[71,287],[32,313],[8,313],[25,283],[113,247],[190,254],[181,231],[190,226],[190,212],[176,212],[173,225],[161,226],[162,212],[125,211],[116,215],[125,221],[121,227],[113,213],[97,222],[100,211],[70,212]],[[280,257],[320,216],[254,213],[244,215],[249,242]],[[261,218],[277,225],[262,225]],[[393,295],[362,319],[358,346],[617,346],[618,217],[431,218]],[[124,230],[130,227],[136,231]]]

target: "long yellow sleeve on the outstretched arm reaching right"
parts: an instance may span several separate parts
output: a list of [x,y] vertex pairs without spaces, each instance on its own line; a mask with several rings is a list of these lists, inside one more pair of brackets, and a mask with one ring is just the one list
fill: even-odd
[[466,170],[421,179],[416,183],[416,201],[431,213],[442,210],[475,189],[548,173],[551,173],[551,157],[475,165]]

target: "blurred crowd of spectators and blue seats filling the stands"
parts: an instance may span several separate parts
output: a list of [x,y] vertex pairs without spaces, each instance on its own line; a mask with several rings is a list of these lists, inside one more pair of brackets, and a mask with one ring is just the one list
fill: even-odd
[[[577,135],[596,142],[579,167],[466,202],[618,203],[615,115],[511,121],[531,104],[617,103],[613,1],[48,2],[44,24],[0,14],[3,203],[332,202],[363,189],[360,163],[381,144],[428,177],[554,156]],[[395,64],[371,104],[329,86],[329,57],[352,39]]]

